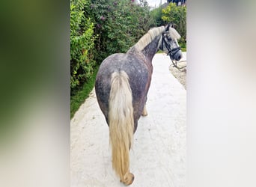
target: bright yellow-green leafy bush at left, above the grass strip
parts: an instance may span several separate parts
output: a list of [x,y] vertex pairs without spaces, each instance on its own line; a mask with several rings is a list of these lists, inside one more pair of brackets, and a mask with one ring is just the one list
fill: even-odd
[[91,2],[87,0],[70,1],[70,88],[81,86],[90,78],[94,61],[94,23],[85,17],[85,10]]

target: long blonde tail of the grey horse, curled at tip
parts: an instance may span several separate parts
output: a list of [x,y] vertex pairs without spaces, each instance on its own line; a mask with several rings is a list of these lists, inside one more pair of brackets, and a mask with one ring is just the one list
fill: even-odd
[[132,91],[127,73],[112,73],[109,94],[109,137],[112,145],[112,167],[129,185],[134,176],[129,173],[129,149],[133,139]]

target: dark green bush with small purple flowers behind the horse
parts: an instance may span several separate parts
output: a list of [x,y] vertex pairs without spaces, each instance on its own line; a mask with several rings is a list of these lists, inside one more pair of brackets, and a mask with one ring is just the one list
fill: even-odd
[[92,0],[98,62],[116,52],[127,52],[130,46],[150,29],[153,19],[147,1]]

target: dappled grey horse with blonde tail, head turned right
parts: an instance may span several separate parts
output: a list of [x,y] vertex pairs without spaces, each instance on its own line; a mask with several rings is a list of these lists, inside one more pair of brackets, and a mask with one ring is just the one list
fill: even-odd
[[153,71],[152,58],[161,49],[172,60],[182,57],[177,40],[180,34],[170,25],[151,28],[127,53],[110,55],[100,65],[95,91],[100,109],[109,125],[112,167],[121,182],[130,185],[129,149],[138,119],[146,116],[147,91]]

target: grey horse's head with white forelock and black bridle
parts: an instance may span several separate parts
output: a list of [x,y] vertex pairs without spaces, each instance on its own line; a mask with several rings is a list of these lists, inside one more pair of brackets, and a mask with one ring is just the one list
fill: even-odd
[[159,49],[168,53],[171,60],[180,61],[180,58],[182,58],[182,52],[177,42],[179,39],[180,34],[170,24],[165,26],[165,31],[162,33],[162,44]]

